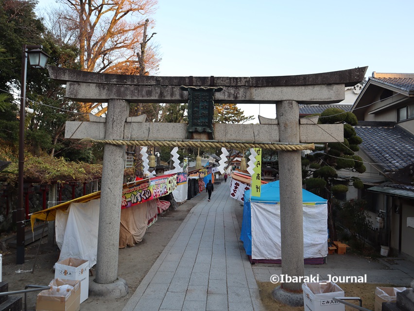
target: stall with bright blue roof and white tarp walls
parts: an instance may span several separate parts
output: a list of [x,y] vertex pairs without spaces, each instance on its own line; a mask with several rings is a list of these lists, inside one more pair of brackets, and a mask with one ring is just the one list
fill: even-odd
[[[304,189],[302,197],[304,261],[322,264],[328,255],[328,203]],[[260,197],[245,191],[240,240],[250,261],[281,263],[280,234],[279,181],[262,185]]]

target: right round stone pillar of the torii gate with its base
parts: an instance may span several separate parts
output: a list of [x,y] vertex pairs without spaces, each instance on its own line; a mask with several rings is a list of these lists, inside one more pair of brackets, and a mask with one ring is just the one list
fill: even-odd
[[[276,103],[280,141],[299,143],[299,104]],[[300,151],[279,151],[280,228],[282,274],[304,276],[302,166]],[[302,283],[283,283],[273,293],[276,300],[303,306]]]

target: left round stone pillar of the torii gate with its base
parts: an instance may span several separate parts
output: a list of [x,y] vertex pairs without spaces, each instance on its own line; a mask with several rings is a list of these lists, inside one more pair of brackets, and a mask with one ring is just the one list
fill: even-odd
[[[105,139],[122,139],[129,103],[121,99],[108,101]],[[125,146],[105,144],[99,208],[98,254],[96,277],[89,291],[96,296],[119,298],[128,294],[128,285],[118,277],[118,253],[121,221],[122,179]]]

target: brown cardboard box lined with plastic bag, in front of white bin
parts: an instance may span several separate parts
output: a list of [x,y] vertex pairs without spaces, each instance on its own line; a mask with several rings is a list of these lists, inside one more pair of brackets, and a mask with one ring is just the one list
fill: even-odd
[[[79,311],[80,281],[55,278],[49,285],[50,290],[37,294],[36,311]],[[72,289],[67,289],[64,285],[70,285]]]

